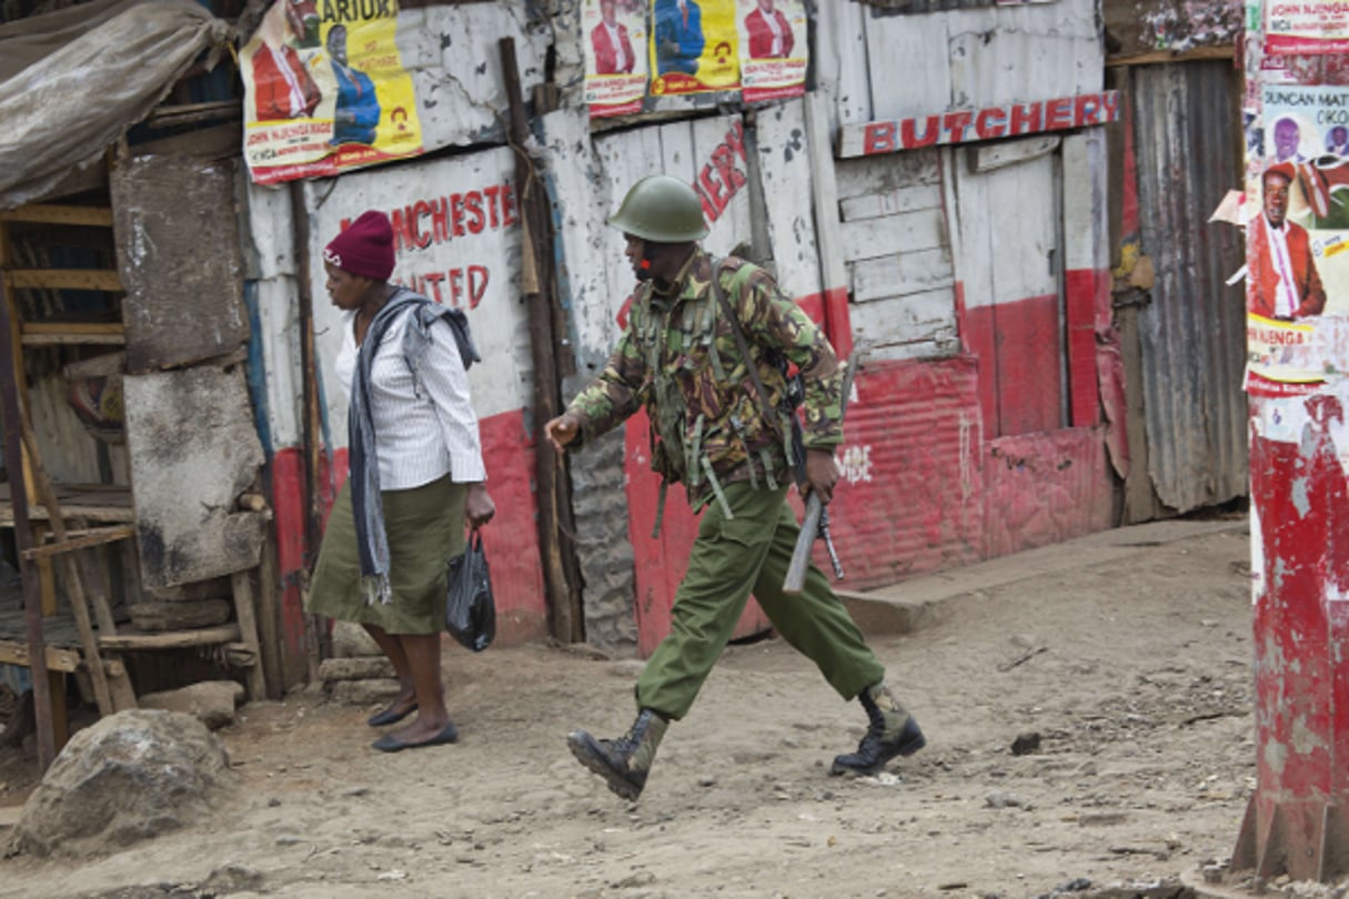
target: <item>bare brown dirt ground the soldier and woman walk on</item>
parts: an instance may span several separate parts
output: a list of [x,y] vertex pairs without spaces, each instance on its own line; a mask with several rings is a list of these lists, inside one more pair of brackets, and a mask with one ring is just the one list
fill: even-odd
[[[1255,786],[1249,536],[1230,519],[1149,534],[1117,531],[1110,558],[969,590],[928,627],[873,638],[928,736],[877,778],[828,775],[862,710],[780,640],[728,648],[637,805],[564,745],[576,726],[626,729],[635,662],[452,651],[457,745],[374,752],[371,709],[313,693],[244,706],[220,732],[244,788],[213,821],[93,861],[7,859],[0,896],[893,899],[1202,883]],[[1031,733],[1039,748],[1014,755]],[[7,788],[0,805],[22,778]]]

